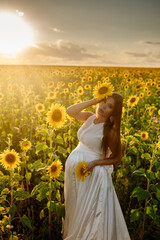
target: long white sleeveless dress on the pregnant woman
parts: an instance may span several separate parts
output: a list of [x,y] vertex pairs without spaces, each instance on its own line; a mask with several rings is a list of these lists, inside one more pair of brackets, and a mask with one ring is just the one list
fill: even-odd
[[104,123],[94,124],[95,118],[90,116],[80,127],[79,144],[66,160],[62,236],[64,240],[130,240],[112,183],[113,165],[94,167],[83,182],[75,176],[79,162],[104,157],[100,148]]

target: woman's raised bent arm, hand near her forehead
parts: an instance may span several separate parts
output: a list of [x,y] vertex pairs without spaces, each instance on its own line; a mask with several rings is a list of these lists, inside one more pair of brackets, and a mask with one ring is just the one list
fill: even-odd
[[83,109],[85,109],[87,107],[90,107],[92,105],[95,105],[99,102],[100,102],[99,99],[93,98],[93,99],[88,100],[88,101],[84,101],[84,102],[81,102],[81,103],[76,103],[76,104],[73,104],[70,107],[68,107],[66,109],[66,112],[67,112],[68,115],[70,115],[71,117],[74,117],[77,120],[86,121],[87,118],[90,117],[91,115],[93,115],[94,113],[87,112],[87,111],[86,112],[81,112],[81,111]]

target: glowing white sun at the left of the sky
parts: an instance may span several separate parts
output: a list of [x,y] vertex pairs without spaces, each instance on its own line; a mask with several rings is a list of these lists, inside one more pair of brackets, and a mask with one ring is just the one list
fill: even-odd
[[33,31],[22,17],[0,12],[0,52],[16,54],[33,45]]

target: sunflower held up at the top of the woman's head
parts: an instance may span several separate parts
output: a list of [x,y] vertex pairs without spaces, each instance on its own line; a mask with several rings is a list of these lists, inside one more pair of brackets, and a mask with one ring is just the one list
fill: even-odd
[[99,100],[112,95],[114,90],[113,85],[110,82],[99,83],[94,87],[93,95]]

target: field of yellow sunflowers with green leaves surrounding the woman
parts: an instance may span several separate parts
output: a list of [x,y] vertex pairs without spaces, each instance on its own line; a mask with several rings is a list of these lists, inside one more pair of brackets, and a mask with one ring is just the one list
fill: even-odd
[[112,179],[131,239],[160,239],[160,69],[16,65],[0,66],[1,239],[62,240],[65,162],[83,124],[66,108],[104,82],[123,97]]

